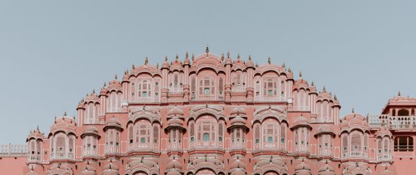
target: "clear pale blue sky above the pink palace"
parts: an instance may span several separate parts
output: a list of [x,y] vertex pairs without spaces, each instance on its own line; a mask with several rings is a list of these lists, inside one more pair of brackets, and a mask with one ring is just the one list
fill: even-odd
[[397,94],[416,97],[416,1],[0,1],[0,143],[121,75],[205,46],[295,75],[335,93],[341,113],[378,114]]

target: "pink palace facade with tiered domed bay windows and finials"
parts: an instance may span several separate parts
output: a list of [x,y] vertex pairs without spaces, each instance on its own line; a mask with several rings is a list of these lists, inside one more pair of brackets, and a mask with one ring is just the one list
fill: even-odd
[[376,116],[340,108],[270,58],[146,58],[0,164],[24,158],[10,166],[27,175],[416,174],[416,98],[398,94]]

